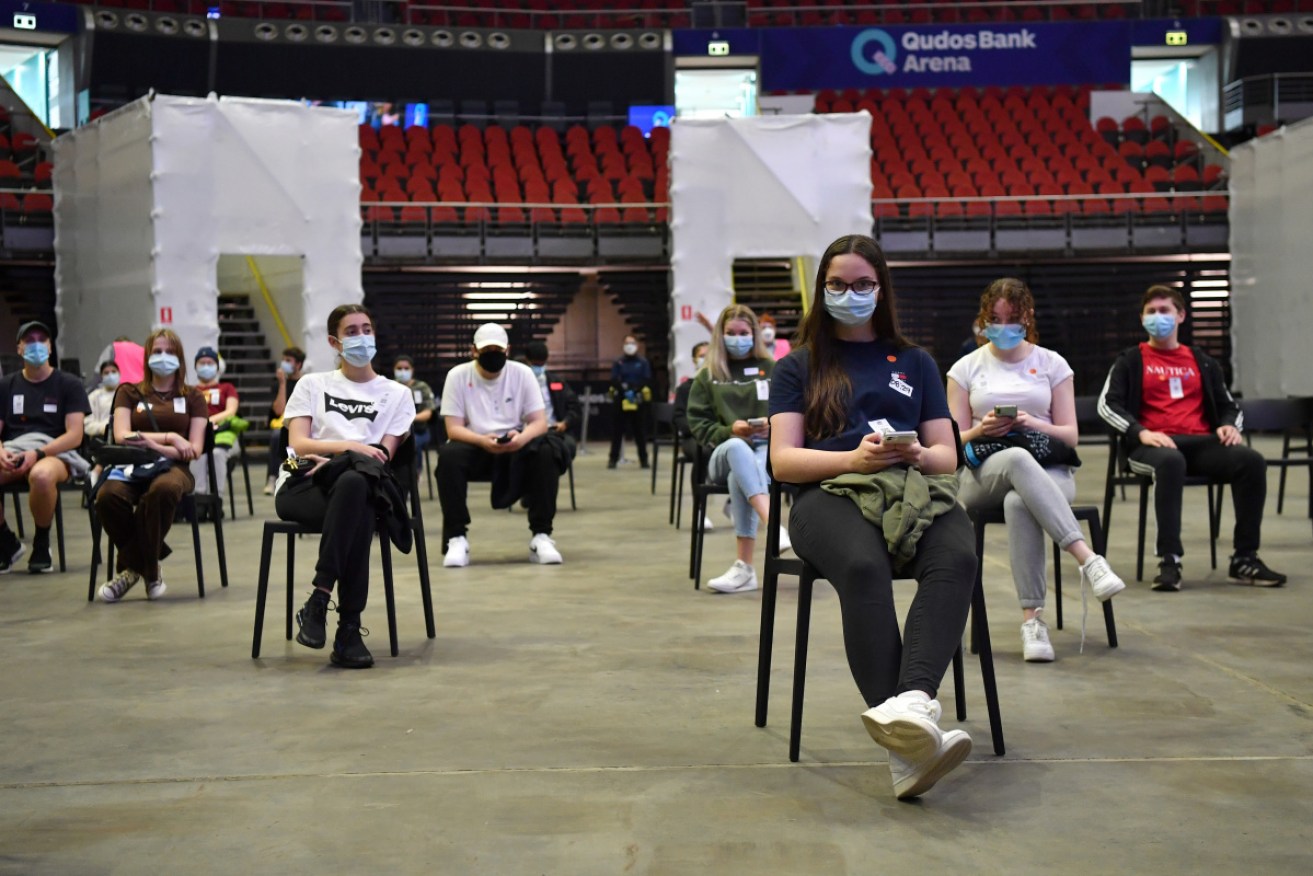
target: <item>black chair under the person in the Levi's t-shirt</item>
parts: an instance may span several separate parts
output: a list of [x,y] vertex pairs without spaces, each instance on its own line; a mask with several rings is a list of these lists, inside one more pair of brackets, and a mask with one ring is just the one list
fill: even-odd
[[[286,441],[286,436],[284,436]],[[399,478],[406,485],[407,500],[411,512],[411,532],[415,540],[415,559],[419,563],[419,592],[424,602],[424,630],[428,638],[436,638],[437,630],[433,624],[433,595],[429,588],[428,575],[428,545],[424,540],[424,516],[419,503],[419,470],[415,468],[415,439],[406,436],[406,440],[397,448],[393,461],[393,470],[404,473]],[[297,536],[314,535],[318,529],[309,529],[290,520],[265,520],[264,536],[260,542],[260,578],[256,586],[255,598],[255,632],[251,636],[251,659],[259,659],[260,642],[264,636],[264,608],[269,592],[269,565],[273,559],[273,538],[277,535],[288,537],[288,592],[286,592],[286,619],[284,633],[291,641],[291,619],[295,612],[293,600],[295,599],[295,545]],[[393,552],[387,529],[378,528],[378,556],[383,566],[383,598],[387,605],[387,644],[391,655],[397,657],[400,649],[397,644],[397,596],[393,588]]]

